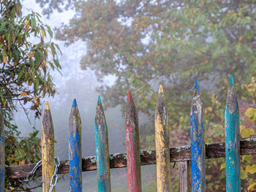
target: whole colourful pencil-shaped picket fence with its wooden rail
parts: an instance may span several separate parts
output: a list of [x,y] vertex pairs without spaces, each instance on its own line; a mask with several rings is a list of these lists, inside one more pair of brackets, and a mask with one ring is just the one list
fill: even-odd
[[[69,191],[82,191],[82,172],[91,170],[97,170],[98,191],[111,191],[110,169],[125,166],[127,166],[129,192],[142,191],[140,165],[148,164],[157,164],[157,191],[170,191],[170,162],[178,162],[180,191],[190,191],[190,189],[206,191],[205,159],[221,157],[226,159],[226,191],[241,191],[239,158],[240,155],[256,154],[256,138],[240,141],[238,101],[233,77],[230,77],[225,107],[225,143],[206,144],[204,142],[203,107],[197,82],[195,82],[190,113],[191,146],[169,147],[167,107],[161,85],[154,119],[156,150],[140,150],[138,114],[130,91],[127,96],[124,119],[127,153],[109,155],[108,127],[102,101],[99,98],[94,126],[96,156],[83,158],[81,120],[78,104],[74,99],[69,116],[69,160],[60,161],[57,169],[57,174],[69,173]],[[2,192],[5,171],[5,177],[15,180],[26,177],[35,164],[5,168],[4,128],[1,116],[0,120],[0,192]],[[191,174],[189,161],[191,161]],[[42,191],[50,190],[50,180],[54,177],[55,168],[53,120],[47,102],[42,118],[42,168],[35,172],[35,176],[42,176]],[[191,185],[188,184],[189,177]]]

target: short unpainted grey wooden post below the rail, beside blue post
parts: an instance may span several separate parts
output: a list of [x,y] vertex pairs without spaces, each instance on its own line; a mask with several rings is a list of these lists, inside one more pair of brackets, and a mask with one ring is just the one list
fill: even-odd
[[190,186],[190,174],[189,174],[189,161],[178,162],[178,174],[179,174],[179,192],[189,192]]

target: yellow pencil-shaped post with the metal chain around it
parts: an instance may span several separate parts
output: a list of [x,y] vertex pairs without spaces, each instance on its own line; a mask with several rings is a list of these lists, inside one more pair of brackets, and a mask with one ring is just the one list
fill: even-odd
[[[48,101],[45,104],[45,112],[42,117],[42,191],[50,189],[50,179],[55,168],[54,159],[54,129],[53,119],[50,115]],[[55,188],[53,188],[53,192]]]

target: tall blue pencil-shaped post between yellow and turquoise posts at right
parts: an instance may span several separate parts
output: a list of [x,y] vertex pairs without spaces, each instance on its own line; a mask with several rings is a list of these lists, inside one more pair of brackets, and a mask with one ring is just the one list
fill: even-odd
[[192,192],[206,191],[206,149],[204,142],[205,130],[203,127],[203,103],[200,99],[197,81],[195,82],[190,114],[190,134]]

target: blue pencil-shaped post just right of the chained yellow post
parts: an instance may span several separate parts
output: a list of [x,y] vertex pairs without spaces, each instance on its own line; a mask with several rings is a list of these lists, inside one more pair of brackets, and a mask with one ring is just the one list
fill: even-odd
[[80,192],[82,188],[81,119],[77,101],[74,99],[69,116],[69,191]]

